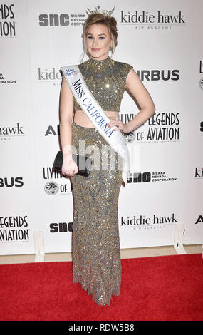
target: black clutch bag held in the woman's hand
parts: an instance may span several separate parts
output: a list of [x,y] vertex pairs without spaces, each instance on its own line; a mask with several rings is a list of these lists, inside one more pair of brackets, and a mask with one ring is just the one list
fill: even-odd
[[[76,155],[75,153],[72,153],[72,157],[74,162],[78,166],[77,175],[83,175],[85,177],[88,177],[93,162],[92,158],[78,154]],[[61,172],[62,165],[63,165],[63,153],[62,151],[58,151],[56,158],[53,162],[53,169]]]

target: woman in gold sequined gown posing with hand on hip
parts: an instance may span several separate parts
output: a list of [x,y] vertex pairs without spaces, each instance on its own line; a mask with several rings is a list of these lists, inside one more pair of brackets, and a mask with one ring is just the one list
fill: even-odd
[[[78,68],[88,89],[110,118],[108,126],[117,126],[114,131],[120,130],[124,135],[145,123],[155,113],[155,105],[132,66],[108,56],[117,46],[116,24],[115,18],[104,14],[88,16],[83,27],[83,46],[84,55],[86,53],[89,58]],[[124,124],[119,119],[119,110],[126,88],[141,109],[130,123]],[[88,294],[93,294],[98,305],[109,306],[111,297],[120,294],[121,284],[118,196],[122,170],[119,155],[81,110],[64,77],[60,115],[62,172],[71,177],[73,185],[73,282],[79,282]],[[77,175],[71,145],[77,148],[77,153],[86,156],[92,155],[90,149],[95,148],[93,170],[88,177]],[[114,168],[111,166],[113,151]]]

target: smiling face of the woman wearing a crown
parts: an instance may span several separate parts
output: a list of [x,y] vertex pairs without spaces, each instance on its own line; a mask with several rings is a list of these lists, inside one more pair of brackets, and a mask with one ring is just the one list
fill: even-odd
[[103,24],[92,24],[86,36],[86,46],[91,58],[101,61],[108,58],[111,37],[108,27]]

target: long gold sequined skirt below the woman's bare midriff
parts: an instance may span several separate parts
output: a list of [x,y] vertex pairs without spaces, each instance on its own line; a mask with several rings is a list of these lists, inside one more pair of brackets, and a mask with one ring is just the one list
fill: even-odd
[[[95,128],[81,127],[73,122],[72,144],[78,152],[82,143],[80,140],[85,141],[80,155],[91,155],[85,150],[89,145],[95,145],[100,159],[94,162],[95,169],[88,177],[77,174],[71,177],[74,205],[73,282],[79,282],[88,294],[93,294],[93,300],[98,305],[109,306],[112,295],[120,294],[121,283],[118,230],[121,165],[118,153],[115,153],[115,169],[110,170],[110,152],[106,150],[107,154],[102,155],[103,146],[109,147],[105,139]],[[109,170],[98,170],[102,163],[106,163]]]

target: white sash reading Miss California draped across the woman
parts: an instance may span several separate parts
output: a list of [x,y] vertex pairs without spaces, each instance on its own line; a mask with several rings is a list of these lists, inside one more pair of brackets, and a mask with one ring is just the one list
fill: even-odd
[[95,125],[95,128],[103,138],[105,138],[108,144],[123,158],[122,179],[126,185],[127,177],[130,172],[130,153],[124,136],[120,133],[120,130],[113,131],[114,128],[117,128],[116,126],[108,127],[107,123],[110,122],[110,119],[86,86],[78,66],[63,66],[61,70],[63,71],[68,86],[71,88],[73,96],[76,98],[82,110],[88,115],[90,121]]

